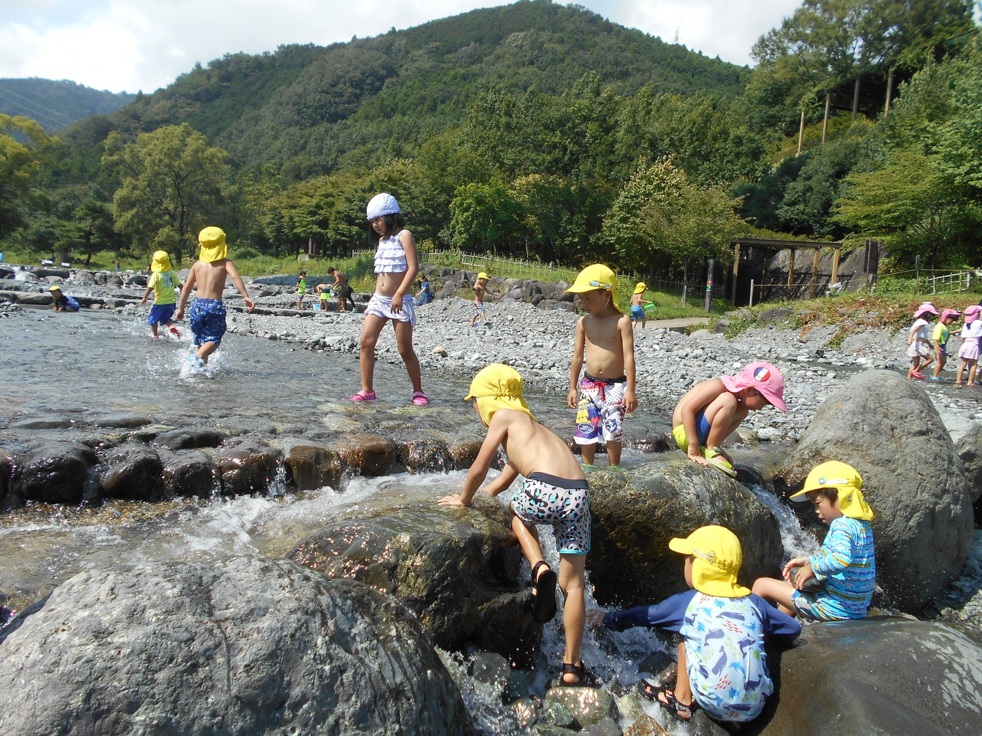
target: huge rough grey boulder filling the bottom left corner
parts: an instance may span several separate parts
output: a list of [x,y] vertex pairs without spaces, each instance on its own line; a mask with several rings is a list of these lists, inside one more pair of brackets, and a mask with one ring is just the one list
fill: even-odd
[[405,606],[288,560],[85,571],[17,624],[7,736],[473,733]]

